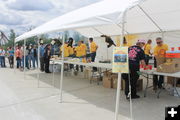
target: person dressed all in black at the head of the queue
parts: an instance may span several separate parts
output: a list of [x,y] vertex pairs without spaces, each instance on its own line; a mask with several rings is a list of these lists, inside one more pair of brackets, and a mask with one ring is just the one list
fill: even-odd
[[45,62],[45,72],[46,73],[51,73],[49,71],[49,62],[51,58],[51,45],[48,44],[45,48],[45,53],[44,53],[44,62]]

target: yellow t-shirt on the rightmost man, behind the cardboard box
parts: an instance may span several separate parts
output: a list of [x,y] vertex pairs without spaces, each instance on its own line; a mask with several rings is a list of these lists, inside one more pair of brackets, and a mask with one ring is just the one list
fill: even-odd
[[163,44],[162,46],[157,45],[154,48],[154,56],[165,57],[167,50],[168,50],[168,45],[167,44]]

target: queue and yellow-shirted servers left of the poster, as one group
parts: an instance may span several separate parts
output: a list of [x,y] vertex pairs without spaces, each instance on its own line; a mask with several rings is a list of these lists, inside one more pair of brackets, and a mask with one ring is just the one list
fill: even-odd
[[[90,42],[90,52],[88,52],[88,47],[84,43],[84,41],[79,41],[77,44],[74,43],[73,38],[69,38],[68,41],[62,46],[61,44],[55,44],[56,40],[54,40],[51,44],[43,44],[43,40],[40,39],[40,70],[42,72],[51,73],[49,71],[50,58],[53,55],[62,55],[62,51],[64,50],[64,57],[72,57],[72,58],[87,58],[90,57],[91,61],[95,61],[96,51],[98,46],[93,41],[93,38],[89,38]],[[55,48],[59,48],[59,52],[55,52]],[[14,57],[15,56],[15,57]],[[16,61],[16,68],[23,70],[26,69],[36,69],[38,67],[38,47],[37,45],[26,45],[21,46],[17,45],[14,48],[8,47],[7,50],[4,50],[0,47],[0,66],[2,68],[6,67],[6,60],[8,58],[10,68],[14,68],[14,60]],[[24,66],[25,65],[25,66]],[[74,65],[70,64],[70,69],[74,69]],[[81,72],[83,72],[83,66],[76,65],[75,70],[79,71],[79,67]],[[97,70],[97,68],[93,68],[93,70]]]

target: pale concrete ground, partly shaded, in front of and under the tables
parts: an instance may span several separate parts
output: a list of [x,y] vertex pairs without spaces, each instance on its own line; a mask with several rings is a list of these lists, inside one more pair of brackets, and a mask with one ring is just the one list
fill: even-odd
[[[0,68],[0,120],[114,120],[114,89],[89,84],[80,76],[64,78],[63,103],[59,103],[60,74],[40,74],[37,86],[37,71],[26,73]],[[140,93],[142,95],[142,93]],[[164,120],[165,106],[180,104],[180,99],[163,92],[157,99],[152,91],[147,98],[133,101],[135,120]],[[128,120],[129,102],[123,92],[120,102],[120,120]]]

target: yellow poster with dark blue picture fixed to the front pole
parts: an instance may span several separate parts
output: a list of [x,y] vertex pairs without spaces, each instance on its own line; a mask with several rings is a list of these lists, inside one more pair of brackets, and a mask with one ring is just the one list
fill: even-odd
[[113,73],[129,73],[128,47],[113,49]]

